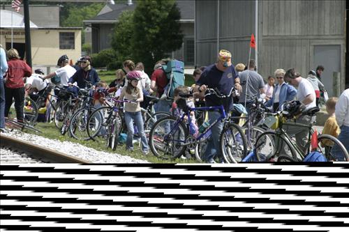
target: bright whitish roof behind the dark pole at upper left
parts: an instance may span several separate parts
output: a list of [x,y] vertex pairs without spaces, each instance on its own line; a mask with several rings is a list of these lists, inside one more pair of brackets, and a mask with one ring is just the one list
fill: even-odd
[[[12,14],[12,22],[11,22]],[[10,10],[0,10],[1,28],[24,28],[24,16]],[[30,28],[38,28],[36,24],[30,21]]]

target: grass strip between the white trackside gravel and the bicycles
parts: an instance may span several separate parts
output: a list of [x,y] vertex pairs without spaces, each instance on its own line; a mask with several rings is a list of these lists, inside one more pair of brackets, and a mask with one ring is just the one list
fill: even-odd
[[[55,127],[53,122],[52,123],[38,123],[36,125],[36,129],[38,129],[42,132],[38,135],[45,137],[47,139],[57,139],[59,141],[70,141],[70,142],[73,142],[76,144],[81,144],[83,146],[87,146],[89,148],[94,148],[96,150],[101,150],[101,151],[104,151],[107,153],[118,153],[120,155],[128,155],[128,156],[133,157],[135,159],[147,160],[148,162],[151,162],[151,163],[195,163],[195,162],[197,162],[196,160],[182,160],[182,159],[162,160],[162,159],[159,159],[158,157],[156,157],[155,155],[153,155],[150,150],[149,150],[148,155],[142,155],[142,151],[138,147],[138,143],[134,144],[135,150],[131,153],[125,150],[125,145],[118,146],[117,150],[108,149],[106,147],[98,146],[98,143],[96,141],[77,140],[77,139],[74,139],[73,137],[69,137],[68,133],[66,135],[61,135],[61,134],[59,134],[59,131],[57,130],[57,128]],[[31,134],[36,134],[35,132],[30,132],[30,131],[28,131],[28,132]]]

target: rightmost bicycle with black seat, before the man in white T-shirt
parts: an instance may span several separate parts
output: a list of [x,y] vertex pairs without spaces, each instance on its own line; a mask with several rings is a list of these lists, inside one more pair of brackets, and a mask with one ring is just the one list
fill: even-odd
[[[288,108],[290,102],[285,103],[285,108]],[[302,112],[302,116],[314,116],[316,112],[319,111],[318,107],[313,107]],[[293,122],[287,122],[287,118],[292,118],[293,116],[287,110],[279,111],[274,114],[269,114],[266,118],[266,125],[275,131],[267,131],[257,138],[255,142],[255,156],[258,162],[269,162],[269,161],[302,161],[304,157],[311,152],[311,137],[315,136],[315,130],[313,130],[313,125],[315,122],[309,123],[309,125],[297,123],[296,119]],[[305,127],[308,129],[308,142],[305,146],[305,151],[302,150],[287,134],[283,129],[284,126],[292,127]],[[331,141],[332,144],[339,146],[341,153],[341,159],[334,157],[332,153],[332,148],[325,148],[322,144],[324,141]],[[317,151],[325,155],[327,160],[346,160],[349,161],[349,155],[343,144],[332,137],[329,134],[321,134],[318,136],[317,141]]]

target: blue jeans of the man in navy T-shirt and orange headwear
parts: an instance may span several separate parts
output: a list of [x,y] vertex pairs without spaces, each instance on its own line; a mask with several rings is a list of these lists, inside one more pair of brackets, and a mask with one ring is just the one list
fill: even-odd
[[[213,123],[217,118],[221,116],[221,114],[217,111],[209,111],[209,123]],[[218,121],[213,127],[211,127],[211,138],[207,143],[207,148],[205,150],[205,161],[209,162],[214,157],[218,157],[220,160],[223,160],[223,155],[221,154],[221,149],[219,148],[219,137],[221,136],[221,132],[223,130],[222,121]]]

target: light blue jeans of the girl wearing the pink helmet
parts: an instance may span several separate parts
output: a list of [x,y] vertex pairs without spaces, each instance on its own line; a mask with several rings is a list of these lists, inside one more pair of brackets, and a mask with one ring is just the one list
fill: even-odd
[[126,148],[133,148],[133,134],[135,129],[133,128],[133,121],[138,128],[138,134],[140,135],[140,141],[142,142],[142,151],[147,152],[149,150],[147,137],[144,133],[144,124],[142,118],[142,112],[125,112],[125,122],[127,126],[127,139]]

